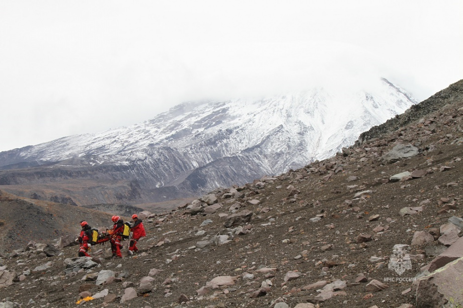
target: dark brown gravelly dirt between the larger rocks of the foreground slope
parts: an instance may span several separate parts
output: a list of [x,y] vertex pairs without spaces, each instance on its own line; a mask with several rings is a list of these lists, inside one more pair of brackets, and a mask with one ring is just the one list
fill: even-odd
[[[123,259],[109,259],[108,245],[104,252],[102,245],[95,246],[92,254],[101,260],[98,268],[65,275],[63,261],[76,257],[76,246],[66,247],[62,255],[50,258],[41,254],[9,258],[6,254],[0,265],[18,274],[48,261],[53,266],[0,288],[0,301],[55,308],[273,307],[272,302],[280,297],[289,307],[306,302],[324,308],[414,304],[414,292],[404,291],[411,287],[410,280],[420,268],[434,258],[426,255],[425,248],[439,243],[412,246],[412,268],[400,276],[388,265],[394,245],[410,245],[416,231],[439,228],[449,217],[463,216],[462,107],[463,101],[453,101],[407,126],[350,147],[345,155],[339,153],[273,179],[256,180],[237,188],[239,198],[224,196],[232,191],[230,188],[217,189],[211,193],[217,196],[221,207],[214,213],[192,215],[187,208],[179,208],[147,218],[147,237],[138,244],[140,252]],[[394,164],[383,163],[384,153],[399,143],[414,144],[422,152]],[[424,175],[389,181],[393,175],[414,170],[424,171]],[[362,191],[368,192],[354,197]],[[253,200],[259,202],[252,204]],[[235,226],[224,227],[232,214],[230,207],[237,203],[238,212],[253,213],[251,232],[245,235],[235,235]],[[416,214],[400,214],[404,207],[419,206],[422,210]],[[317,216],[319,221],[311,221]],[[204,224],[207,219],[211,222]],[[110,217],[107,225],[111,225]],[[361,234],[370,235],[371,241],[359,243]],[[216,235],[228,235],[230,241],[199,248],[198,242]],[[273,270],[259,273],[260,268]],[[128,277],[96,286],[91,293],[108,289],[117,296],[116,300],[105,302],[98,298],[76,304],[81,299],[79,287],[95,283],[83,280],[85,275],[106,269],[115,271],[116,276],[127,271]],[[120,303],[125,287],[130,285],[126,282],[133,282],[137,289],[140,279],[148,276],[151,269],[160,270],[152,276],[153,289]],[[288,272],[300,276],[285,281]],[[376,279],[389,287],[367,291],[368,282],[356,282],[359,273],[368,281]],[[237,279],[233,285],[198,294],[197,290],[218,276]],[[253,298],[252,294],[267,280],[271,286],[266,294],[261,292],[261,296]],[[331,298],[319,301],[316,296],[322,287],[307,290],[306,286],[321,280],[342,280],[346,286]],[[181,294],[189,301],[178,303]]]

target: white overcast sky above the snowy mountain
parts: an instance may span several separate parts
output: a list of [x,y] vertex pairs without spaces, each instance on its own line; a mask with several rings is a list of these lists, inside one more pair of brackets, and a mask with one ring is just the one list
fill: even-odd
[[0,151],[181,102],[463,79],[463,1],[0,0]]

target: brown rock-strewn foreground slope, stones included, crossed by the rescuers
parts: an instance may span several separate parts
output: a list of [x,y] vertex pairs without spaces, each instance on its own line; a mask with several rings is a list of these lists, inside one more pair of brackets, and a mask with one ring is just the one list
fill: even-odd
[[[44,246],[33,243],[5,254],[1,302],[56,308],[78,302],[210,308],[461,305],[460,290],[445,299],[441,293],[449,287],[416,288],[412,280],[442,251],[459,248],[456,255],[463,257],[462,93],[463,80],[435,96],[446,97],[445,104],[411,109],[399,116],[410,118],[408,124],[382,126],[327,160],[217,188],[165,214],[142,212],[147,237],[136,256],[108,259],[108,247],[96,246],[92,254],[98,263],[84,258],[86,264],[79,265],[68,260],[75,247],[46,257]],[[396,245],[405,245],[400,260]],[[458,273],[445,269],[434,275]],[[447,281],[456,279],[450,276]]]

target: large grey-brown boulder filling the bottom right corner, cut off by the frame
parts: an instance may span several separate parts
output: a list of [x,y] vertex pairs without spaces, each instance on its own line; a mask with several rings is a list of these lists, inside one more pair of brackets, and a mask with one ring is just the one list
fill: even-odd
[[416,308],[459,307],[463,304],[461,284],[463,258],[456,259],[433,273],[419,278],[416,284]]

